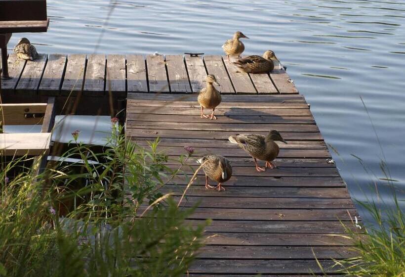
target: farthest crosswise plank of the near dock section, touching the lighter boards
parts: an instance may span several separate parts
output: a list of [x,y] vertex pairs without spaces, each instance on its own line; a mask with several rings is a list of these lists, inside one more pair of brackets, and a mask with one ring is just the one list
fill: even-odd
[[[193,94],[145,94],[139,92],[131,92],[128,94],[130,100],[169,100],[169,101],[191,101],[195,99]],[[241,102],[240,104],[251,105],[255,102],[306,102],[305,97],[301,94],[257,94],[254,97],[246,94],[224,94],[222,95],[223,102]]]

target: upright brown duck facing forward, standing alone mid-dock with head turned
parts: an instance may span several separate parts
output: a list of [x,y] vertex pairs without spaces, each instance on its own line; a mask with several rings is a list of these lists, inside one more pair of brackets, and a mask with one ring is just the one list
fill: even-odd
[[[212,83],[215,83],[215,85],[217,86],[221,85],[218,84],[218,82],[215,79],[215,76],[211,74],[207,75],[205,81],[206,87],[201,90],[197,98],[201,106],[201,118],[216,119],[216,116],[214,116],[214,111],[215,108],[219,105],[219,103],[221,103],[222,97],[221,94],[217,91],[217,89],[215,89],[214,85],[212,85]],[[211,115],[205,115],[204,108],[212,109]]]

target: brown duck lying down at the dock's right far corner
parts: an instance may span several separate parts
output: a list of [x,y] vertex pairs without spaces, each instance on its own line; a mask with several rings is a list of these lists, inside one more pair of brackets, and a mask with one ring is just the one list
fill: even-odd
[[235,64],[246,73],[268,73],[274,68],[273,57],[275,57],[274,52],[267,50],[263,56],[247,56],[238,59]]

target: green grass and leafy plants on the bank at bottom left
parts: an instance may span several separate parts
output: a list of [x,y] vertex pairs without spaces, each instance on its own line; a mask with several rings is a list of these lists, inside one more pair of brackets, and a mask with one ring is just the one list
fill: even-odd
[[38,161],[19,168],[27,157],[1,162],[0,276],[184,276],[208,223],[190,226],[193,209],[159,188],[189,156],[170,171],[159,141],[145,149],[121,133],[114,123],[101,153],[76,136],[62,156],[83,162],[48,163],[40,175]]

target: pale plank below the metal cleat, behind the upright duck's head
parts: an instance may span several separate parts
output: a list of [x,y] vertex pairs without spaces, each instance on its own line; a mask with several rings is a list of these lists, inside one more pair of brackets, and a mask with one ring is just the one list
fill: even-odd
[[[202,57],[185,56],[191,89],[200,92],[205,87],[206,71]],[[219,88],[217,88],[219,89]]]

